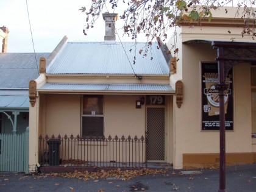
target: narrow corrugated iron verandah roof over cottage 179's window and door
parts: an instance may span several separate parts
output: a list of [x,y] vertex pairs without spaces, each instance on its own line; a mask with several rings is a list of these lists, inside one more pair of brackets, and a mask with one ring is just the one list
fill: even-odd
[[157,84],[44,84],[41,93],[122,93],[122,94],[174,94],[170,85]]

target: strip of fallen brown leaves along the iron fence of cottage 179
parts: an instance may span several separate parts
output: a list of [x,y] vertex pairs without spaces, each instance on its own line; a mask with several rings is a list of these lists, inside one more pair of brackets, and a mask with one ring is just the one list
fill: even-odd
[[121,170],[121,169],[112,169],[112,170],[104,170],[98,172],[63,172],[63,173],[50,173],[46,174],[46,176],[51,177],[66,177],[66,178],[76,178],[76,179],[83,179],[83,180],[94,180],[94,182],[98,182],[98,179],[105,179],[108,177],[114,177],[116,179],[121,180],[130,180],[137,176],[145,176],[145,175],[154,175],[158,173],[165,173],[166,170],[163,169],[131,169],[131,170]]

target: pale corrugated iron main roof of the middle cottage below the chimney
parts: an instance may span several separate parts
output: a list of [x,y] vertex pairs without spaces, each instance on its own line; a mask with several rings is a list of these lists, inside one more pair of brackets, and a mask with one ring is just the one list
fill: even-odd
[[[66,43],[46,69],[48,74],[149,74],[169,76],[166,55],[157,43],[143,57],[146,43]],[[135,63],[133,63],[135,57]],[[153,57],[153,59],[151,59]]]

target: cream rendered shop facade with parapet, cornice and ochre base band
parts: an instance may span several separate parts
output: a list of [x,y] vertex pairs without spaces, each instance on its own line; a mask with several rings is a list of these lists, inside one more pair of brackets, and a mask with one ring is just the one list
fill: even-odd
[[[228,12],[226,13],[226,10]],[[251,36],[241,37],[243,20],[235,19],[236,7],[222,7],[213,12],[210,23],[184,24],[177,27],[179,48],[177,73],[170,77],[184,85],[181,108],[174,105],[174,168],[203,168],[219,165],[219,131],[202,130],[201,62],[215,62],[212,41],[255,42]],[[230,31],[231,33],[229,33]],[[191,43],[191,42],[201,43]],[[202,43],[209,41],[210,43]],[[175,99],[175,97],[174,97]],[[252,138],[251,63],[233,68],[233,130],[226,131],[227,165],[255,163],[256,140]]]

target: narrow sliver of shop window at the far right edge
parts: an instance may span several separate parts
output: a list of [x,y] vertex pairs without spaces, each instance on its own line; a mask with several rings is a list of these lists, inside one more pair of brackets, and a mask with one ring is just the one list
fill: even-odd
[[256,137],[256,66],[251,67],[252,137]]

